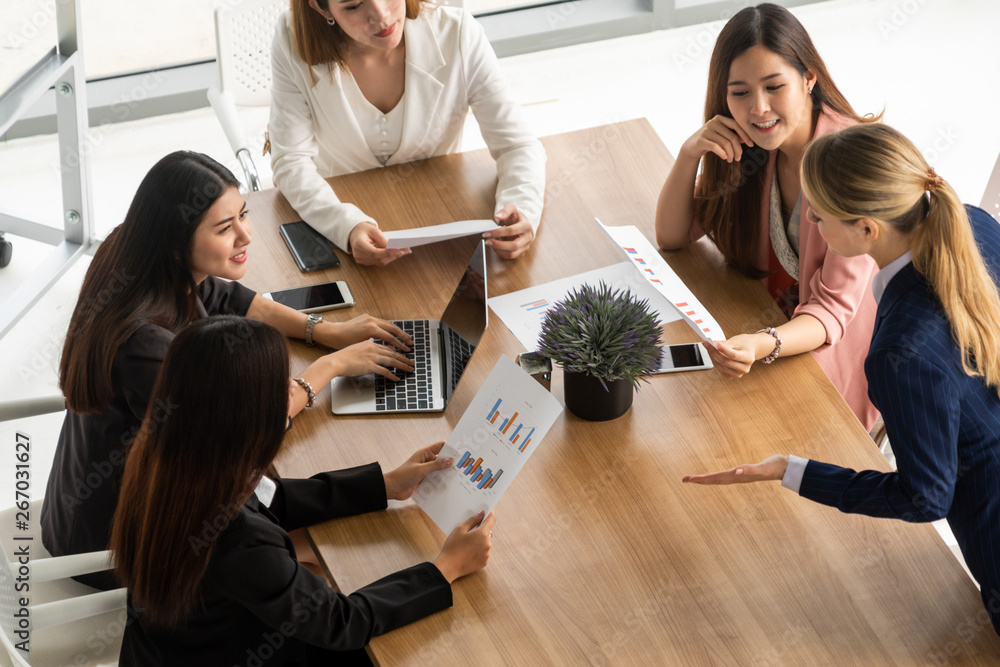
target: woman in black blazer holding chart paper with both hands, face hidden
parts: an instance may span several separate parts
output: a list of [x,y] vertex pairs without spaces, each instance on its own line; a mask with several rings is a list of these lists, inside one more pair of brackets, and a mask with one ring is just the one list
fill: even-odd
[[266,324],[213,317],[171,343],[153,398],[177,407],[135,439],[112,528],[133,614],[123,666],[365,664],[373,636],[451,606],[451,582],[486,565],[495,519],[481,514],[433,563],[351,595],[299,563],[287,530],[384,509],[452,460],[438,443],[387,473],[371,463],[261,484],[290,423],[287,378],[284,339]]

